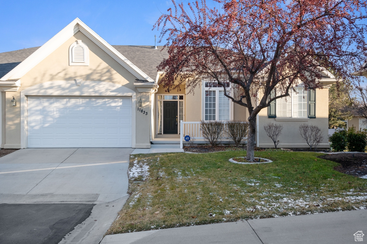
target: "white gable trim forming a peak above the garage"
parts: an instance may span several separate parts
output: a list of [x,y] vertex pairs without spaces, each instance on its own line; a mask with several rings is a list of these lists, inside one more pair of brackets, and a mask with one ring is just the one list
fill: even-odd
[[[6,68],[6,70],[9,70],[12,67],[15,67],[15,68],[13,68],[10,72],[5,74],[0,80],[20,79],[23,75],[25,75],[28,71],[30,71],[37,64],[39,64],[43,59],[45,59],[52,52],[54,52],[59,46],[65,43],[70,37],[72,37],[78,31],[86,35],[91,41],[93,41],[97,46],[99,46],[99,48],[105,51],[108,55],[110,55],[113,59],[115,59],[124,68],[126,68],[126,70],[128,70],[132,75],[134,75],[135,77],[141,80],[147,80],[148,82],[154,82],[152,78],[150,78],[147,74],[145,74],[142,70],[140,70],[136,65],[131,63],[130,60],[124,57],[121,53],[119,53],[115,48],[113,48],[110,44],[108,44],[108,42],[103,40],[97,33],[95,33],[92,29],[90,29],[79,18],[76,18],[75,20],[73,20],[69,25],[67,25],[64,29],[62,29],[59,33],[57,33],[49,41],[47,41],[43,46],[38,48],[24,61],[21,61],[20,64],[19,64],[19,61],[13,62],[13,63],[7,63],[6,64],[8,65],[7,67],[5,67],[5,64],[4,64],[4,67]],[[11,52],[8,52],[8,53],[11,53]]]

